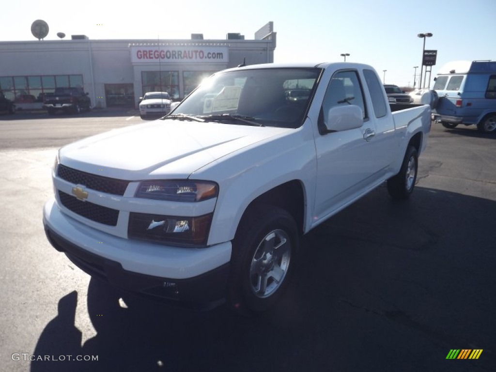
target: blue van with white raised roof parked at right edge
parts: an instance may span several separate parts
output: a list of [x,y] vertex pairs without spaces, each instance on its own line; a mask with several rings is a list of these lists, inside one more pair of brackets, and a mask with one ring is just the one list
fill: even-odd
[[446,128],[477,125],[482,132],[496,132],[496,62],[449,62],[434,80],[436,122]]

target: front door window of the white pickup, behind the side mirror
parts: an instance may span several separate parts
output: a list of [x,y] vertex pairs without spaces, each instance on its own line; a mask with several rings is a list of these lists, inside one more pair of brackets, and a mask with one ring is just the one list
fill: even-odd
[[367,118],[364,94],[357,71],[339,71],[332,75],[320,111],[324,123],[327,123],[329,109],[346,105],[357,105],[362,109],[363,118]]

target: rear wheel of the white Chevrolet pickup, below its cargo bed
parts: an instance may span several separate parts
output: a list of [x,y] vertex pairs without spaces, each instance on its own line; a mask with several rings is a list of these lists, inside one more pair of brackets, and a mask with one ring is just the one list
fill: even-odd
[[387,191],[393,199],[406,199],[413,192],[417,181],[418,153],[408,146],[398,174],[387,180]]

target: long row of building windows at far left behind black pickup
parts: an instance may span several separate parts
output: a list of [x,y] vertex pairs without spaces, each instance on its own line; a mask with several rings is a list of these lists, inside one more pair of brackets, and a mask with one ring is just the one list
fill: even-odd
[[0,76],[0,89],[17,103],[43,102],[56,87],[82,87],[83,75]]

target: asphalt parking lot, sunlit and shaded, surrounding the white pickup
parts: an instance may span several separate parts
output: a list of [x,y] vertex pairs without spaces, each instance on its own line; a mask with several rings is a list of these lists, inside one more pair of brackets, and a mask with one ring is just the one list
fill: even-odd
[[496,371],[496,136],[434,124],[412,198],[381,186],[310,232],[282,301],[242,318],[121,293],[46,240],[57,148],[142,122],[0,116],[0,370]]

